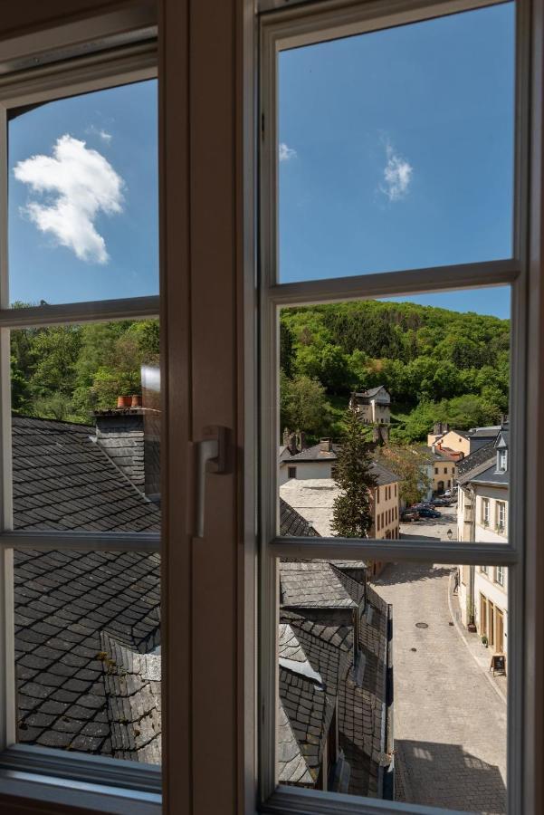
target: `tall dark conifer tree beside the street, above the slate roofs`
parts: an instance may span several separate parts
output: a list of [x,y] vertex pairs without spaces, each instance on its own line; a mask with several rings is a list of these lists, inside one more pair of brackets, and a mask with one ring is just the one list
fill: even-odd
[[342,538],[366,538],[372,526],[372,503],[377,481],[371,472],[366,432],[357,410],[348,408],[339,450],[335,482],[341,494],[333,505],[333,532]]

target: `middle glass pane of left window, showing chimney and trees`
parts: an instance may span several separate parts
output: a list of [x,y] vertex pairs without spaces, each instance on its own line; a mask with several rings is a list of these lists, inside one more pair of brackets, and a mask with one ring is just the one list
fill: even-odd
[[157,320],[12,331],[14,528],[158,532]]

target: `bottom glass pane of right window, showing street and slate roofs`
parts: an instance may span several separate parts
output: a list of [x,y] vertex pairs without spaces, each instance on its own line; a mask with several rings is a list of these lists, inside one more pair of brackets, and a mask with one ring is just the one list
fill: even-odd
[[279,563],[280,783],[504,815],[507,570],[370,567]]

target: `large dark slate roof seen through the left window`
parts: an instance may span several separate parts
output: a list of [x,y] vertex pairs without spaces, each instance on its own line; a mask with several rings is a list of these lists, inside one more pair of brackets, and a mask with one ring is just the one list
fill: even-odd
[[[13,418],[14,527],[158,531],[94,427]],[[160,560],[14,552],[18,740],[160,760]]]

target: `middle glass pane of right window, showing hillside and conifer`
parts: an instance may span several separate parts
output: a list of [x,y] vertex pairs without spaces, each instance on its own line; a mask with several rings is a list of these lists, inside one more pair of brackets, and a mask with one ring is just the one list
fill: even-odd
[[282,309],[279,492],[301,534],[507,541],[510,302],[497,287]]

